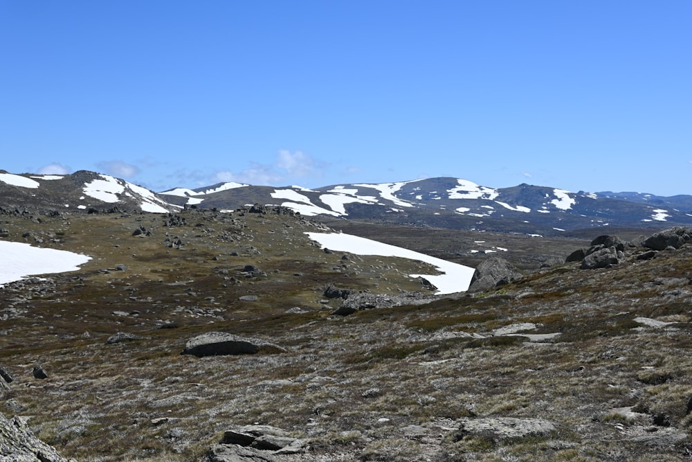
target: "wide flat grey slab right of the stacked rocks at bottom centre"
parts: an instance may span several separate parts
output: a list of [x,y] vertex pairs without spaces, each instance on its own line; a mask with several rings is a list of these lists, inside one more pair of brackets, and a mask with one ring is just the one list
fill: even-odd
[[500,440],[531,435],[547,436],[556,430],[554,423],[539,418],[487,417],[464,419],[459,423],[459,436],[482,434],[492,435]]

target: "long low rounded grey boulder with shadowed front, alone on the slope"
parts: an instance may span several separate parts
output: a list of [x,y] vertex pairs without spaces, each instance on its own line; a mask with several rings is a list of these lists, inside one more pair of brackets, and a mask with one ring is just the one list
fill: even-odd
[[227,332],[207,332],[193,337],[185,345],[183,355],[218,356],[218,355],[254,355],[258,352],[284,353],[285,348],[266,341],[239,337]]

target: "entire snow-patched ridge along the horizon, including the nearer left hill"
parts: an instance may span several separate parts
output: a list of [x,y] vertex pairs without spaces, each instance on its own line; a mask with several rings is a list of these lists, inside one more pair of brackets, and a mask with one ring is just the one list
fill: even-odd
[[264,204],[325,219],[552,235],[598,226],[663,228],[692,224],[692,195],[572,193],[529,184],[492,188],[453,177],[320,188],[228,182],[154,193],[98,172],[15,175],[0,170],[0,195],[0,206],[100,211],[115,206],[167,213],[186,206],[234,210]]

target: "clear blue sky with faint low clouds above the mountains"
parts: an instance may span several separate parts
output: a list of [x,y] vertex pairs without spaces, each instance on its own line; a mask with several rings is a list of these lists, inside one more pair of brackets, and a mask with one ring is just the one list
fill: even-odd
[[692,194],[692,1],[0,0],[0,169]]

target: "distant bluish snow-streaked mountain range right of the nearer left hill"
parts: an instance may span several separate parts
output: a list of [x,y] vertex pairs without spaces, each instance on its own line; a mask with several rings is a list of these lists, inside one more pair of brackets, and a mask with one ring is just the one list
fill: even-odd
[[647,201],[614,193],[570,191],[520,184],[480,186],[465,179],[430,178],[382,184],[340,184],[316,189],[286,186],[216,184],[197,190],[174,189],[161,195],[176,204],[233,208],[273,204],[302,215],[379,219],[452,228],[477,224],[498,231],[540,227],[557,233],[592,226],[666,226],[692,222],[692,197]]

